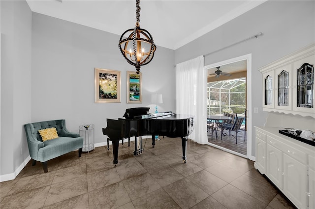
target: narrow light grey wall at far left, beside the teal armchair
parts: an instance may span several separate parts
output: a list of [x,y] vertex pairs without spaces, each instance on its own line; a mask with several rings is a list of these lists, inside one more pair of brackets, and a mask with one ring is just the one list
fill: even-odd
[[22,169],[29,156],[23,124],[31,120],[32,12],[26,1],[0,4],[2,176]]

